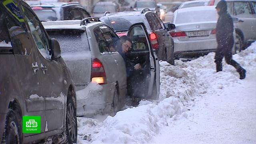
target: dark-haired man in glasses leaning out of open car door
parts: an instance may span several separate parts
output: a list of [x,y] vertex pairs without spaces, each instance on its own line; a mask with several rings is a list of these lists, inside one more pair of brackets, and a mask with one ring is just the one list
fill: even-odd
[[[124,58],[124,62],[126,62],[126,53],[131,50],[132,48],[132,40],[128,36],[121,36],[119,38],[119,42],[116,44],[116,50],[119,52],[119,54]],[[127,77],[130,76],[130,74],[134,70],[141,69],[140,64],[135,64],[134,66],[127,66],[126,65],[126,75]]]

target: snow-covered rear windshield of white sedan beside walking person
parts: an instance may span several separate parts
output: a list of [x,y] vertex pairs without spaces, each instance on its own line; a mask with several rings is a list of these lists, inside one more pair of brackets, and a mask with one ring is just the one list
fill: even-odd
[[194,11],[191,12],[179,12],[175,19],[175,24],[183,24],[189,22],[205,22],[205,21],[217,21],[218,16],[217,12],[214,10],[211,11]]

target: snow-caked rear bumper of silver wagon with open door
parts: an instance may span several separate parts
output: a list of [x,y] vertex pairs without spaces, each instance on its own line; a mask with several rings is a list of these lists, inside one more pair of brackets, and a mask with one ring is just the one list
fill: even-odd
[[77,98],[77,116],[93,116],[111,111],[116,83],[112,82],[101,86],[101,90],[88,87],[84,89],[89,92],[84,98]]

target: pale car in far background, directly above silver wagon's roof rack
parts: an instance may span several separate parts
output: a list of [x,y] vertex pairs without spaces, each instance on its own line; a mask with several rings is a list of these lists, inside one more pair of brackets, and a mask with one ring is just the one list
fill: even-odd
[[92,16],[100,18],[105,12],[120,12],[120,6],[117,2],[100,1],[94,4]]

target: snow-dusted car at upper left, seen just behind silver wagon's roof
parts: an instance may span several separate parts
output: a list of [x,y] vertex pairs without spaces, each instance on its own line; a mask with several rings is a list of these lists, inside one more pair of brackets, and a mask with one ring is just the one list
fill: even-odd
[[41,21],[81,20],[91,16],[81,4],[75,2],[30,4],[30,6]]

